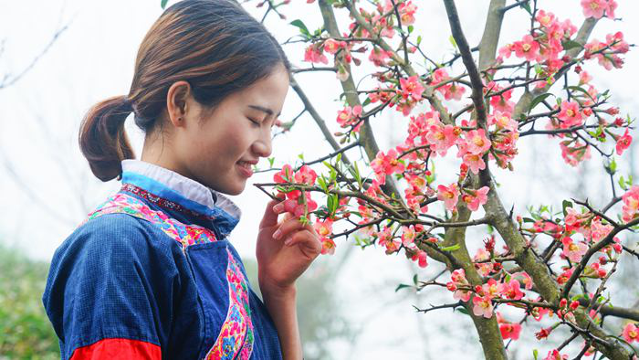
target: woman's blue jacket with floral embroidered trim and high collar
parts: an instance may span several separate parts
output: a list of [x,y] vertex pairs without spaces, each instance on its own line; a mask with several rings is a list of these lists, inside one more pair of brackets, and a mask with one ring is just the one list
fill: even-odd
[[122,189],[56,250],[43,302],[62,359],[280,359],[278,334],[226,236],[239,209],[161,167],[123,162]]

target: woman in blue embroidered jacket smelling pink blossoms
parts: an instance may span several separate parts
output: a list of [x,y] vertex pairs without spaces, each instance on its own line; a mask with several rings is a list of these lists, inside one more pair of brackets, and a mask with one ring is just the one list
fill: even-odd
[[[141,43],[128,96],[102,101],[79,143],[120,192],[57,249],[43,302],[63,359],[300,359],[295,281],[320,251],[312,227],[257,237],[261,302],[226,236],[251,165],[271,153],[290,65],[233,0],[184,0]],[[124,132],[133,112],[141,160]]]

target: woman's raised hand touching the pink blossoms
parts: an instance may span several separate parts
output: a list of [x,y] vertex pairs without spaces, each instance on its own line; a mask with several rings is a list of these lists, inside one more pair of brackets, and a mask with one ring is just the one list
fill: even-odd
[[321,241],[310,224],[288,213],[278,222],[283,205],[270,201],[259,225],[257,267],[262,292],[294,290],[295,281],[321,252]]

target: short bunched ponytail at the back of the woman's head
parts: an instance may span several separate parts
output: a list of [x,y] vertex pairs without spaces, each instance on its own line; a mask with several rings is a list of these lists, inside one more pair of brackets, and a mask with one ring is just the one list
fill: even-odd
[[80,150],[93,175],[102,181],[120,177],[120,162],[135,158],[124,132],[124,121],[132,111],[131,101],[116,96],[93,106],[80,124]]

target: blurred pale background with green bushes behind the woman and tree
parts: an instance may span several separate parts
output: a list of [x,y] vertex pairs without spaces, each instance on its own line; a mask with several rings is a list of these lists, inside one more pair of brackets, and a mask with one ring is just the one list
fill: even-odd
[[[602,19],[593,37],[622,30],[626,41],[639,38],[639,5],[633,0],[617,0],[617,16],[623,21]],[[512,3],[514,1],[508,1]],[[100,201],[118,190],[119,183],[101,183],[93,177],[79,153],[79,122],[91,105],[107,97],[126,94],[131,83],[134,58],[142,37],[162,14],[160,0],[0,0],[0,358],[57,358],[58,339],[50,328],[40,298],[46,281],[48,261],[59,244],[76,228]],[[284,8],[286,19],[267,16],[267,27],[280,42],[298,34],[288,23],[303,14],[311,31],[319,28],[321,18],[316,4],[301,0]],[[435,60],[454,53],[449,42],[449,26],[444,5],[439,1],[415,1],[419,6],[415,32],[423,35],[424,52]],[[471,46],[478,43],[487,13],[487,0],[458,0],[457,7]],[[168,5],[173,4],[170,1]],[[264,8],[249,2],[246,9],[258,19]],[[560,18],[581,25],[578,0],[539,1],[539,7]],[[338,12],[340,28],[348,26],[348,17]],[[634,17],[635,16],[635,17]],[[512,10],[503,26],[500,44],[518,40],[527,31],[528,14]],[[285,46],[291,62],[302,62],[303,45]],[[364,58],[360,56],[360,58]],[[621,114],[639,113],[634,99],[639,79],[639,55],[636,49],[625,57],[623,69],[606,71],[595,64],[585,67],[599,90],[611,89],[613,104]],[[416,63],[425,71],[424,63]],[[356,82],[371,71],[363,66],[353,69]],[[327,75],[329,74],[329,75]],[[300,73],[297,80],[320,115],[334,123],[340,83],[330,73]],[[362,84],[366,84],[366,79]],[[286,122],[303,110],[293,90],[289,90],[281,120]],[[416,113],[417,110],[414,111]],[[373,120],[378,142],[386,150],[404,137],[407,119],[388,110]],[[128,133],[140,154],[141,132],[132,118]],[[634,137],[636,132],[631,133]],[[553,205],[569,197],[589,198],[601,206],[611,197],[610,178],[602,159],[592,159],[577,167],[563,163],[557,140],[527,137],[519,142],[515,171],[497,171],[500,195],[505,206],[515,206],[524,214],[527,206]],[[330,152],[308,114],[302,115],[290,132],[274,142],[275,166],[292,163],[301,154],[306,160]],[[358,152],[349,153],[359,158]],[[446,164],[449,162],[450,164]],[[636,175],[636,148],[617,159],[621,175]],[[447,184],[456,175],[454,158],[438,164],[438,182]],[[258,165],[267,168],[265,160]],[[636,178],[636,176],[634,176]],[[272,173],[260,173],[253,183],[268,182]],[[231,239],[255,274],[255,238],[257,224],[267,203],[252,185],[234,201],[243,217]],[[477,217],[481,217],[481,213]],[[486,232],[469,232],[470,249],[482,245]],[[625,241],[630,241],[626,238]],[[632,242],[633,244],[635,241]],[[429,280],[442,270],[431,260],[426,269],[418,269],[403,257],[385,256],[380,249],[361,250],[354,241],[341,238],[334,256],[317,260],[299,282],[299,318],[306,359],[454,359],[481,358],[481,348],[470,319],[461,312],[443,310],[420,314],[415,308],[452,302],[448,291],[427,289],[419,293],[407,288],[395,291],[398,284],[412,284],[414,276]],[[636,266],[630,259],[622,262],[619,274],[610,286],[614,302],[636,306]],[[257,281],[253,281],[257,283]],[[519,321],[519,314],[509,320]],[[539,323],[525,323],[522,338],[510,344],[513,359],[532,358],[532,349],[545,355],[556,347],[550,339],[538,342],[533,332]],[[621,329],[620,323],[608,323]],[[613,332],[617,332],[616,330]],[[558,342],[563,340],[558,337]],[[574,342],[571,351],[581,346]],[[577,350],[578,352],[578,350]],[[575,353],[576,354],[576,353]]]

